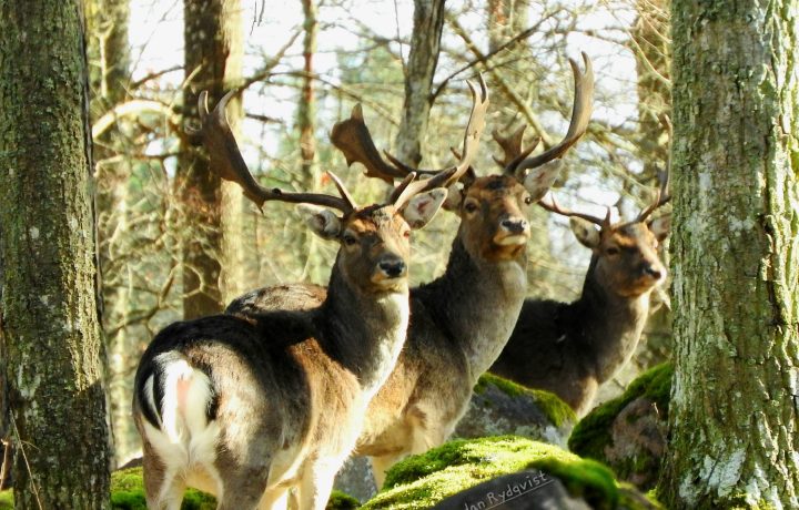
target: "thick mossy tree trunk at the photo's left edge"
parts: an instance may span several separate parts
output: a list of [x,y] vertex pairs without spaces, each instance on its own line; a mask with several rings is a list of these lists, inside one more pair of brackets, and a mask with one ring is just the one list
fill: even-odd
[[0,1],[0,320],[17,508],[109,507],[81,2]]

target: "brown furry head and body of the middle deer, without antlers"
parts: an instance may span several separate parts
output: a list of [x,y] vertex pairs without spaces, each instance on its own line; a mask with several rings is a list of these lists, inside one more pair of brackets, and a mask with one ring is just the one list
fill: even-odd
[[[394,371],[370,404],[358,439],[356,453],[373,457],[378,481],[395,460],[449,436],[477,378],[507,340],[524,300],[529,236],[524,208],[529,193],[514,177],[495,175],[477,178],[462,198],[461,227],[446,273],[412,289],[408,338]],[[520,231],[503,227],[506,220],[512,231]],[[497,244],[510,235],[522,238],[510,246]],[[234,300],[226,313],[283,306],[312,288],[256,290]],[[254,303],[256,296],[269,299]]]

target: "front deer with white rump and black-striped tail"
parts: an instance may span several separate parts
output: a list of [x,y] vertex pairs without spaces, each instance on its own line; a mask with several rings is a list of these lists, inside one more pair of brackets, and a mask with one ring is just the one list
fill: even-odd
[[[332,174],[341,196],[267,190],[227,125],[231,95],[209,113],[202,94],[203,125],[190,133],[211,166],[260,207],[304,204],[311,230],[341,247],[316,307],[174,323],[152,340],[133,398],[148,506],[179,509],[191,486],[216,494],[220,509],[285,508],[292,486],[301,508],[323,509],[405,339],[409,231],[436,213],[446,197],[439,185],[458,169],[429,181],[409,176],[387,204],[366,207]],[[472,154],[464,151],[461,164]]]

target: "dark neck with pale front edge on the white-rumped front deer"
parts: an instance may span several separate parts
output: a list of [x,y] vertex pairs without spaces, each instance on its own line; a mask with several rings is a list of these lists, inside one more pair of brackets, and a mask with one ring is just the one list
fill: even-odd
[[404,292],[364,293],[334,266],[318,320],[324,348],[357,378],[371,399],[396,365],[407,334],[409,304]]

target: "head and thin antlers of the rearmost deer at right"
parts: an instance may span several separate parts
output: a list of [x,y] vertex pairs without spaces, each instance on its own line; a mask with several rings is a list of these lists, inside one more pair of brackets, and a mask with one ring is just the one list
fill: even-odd
[[562,208],[555,200],[539,202],[547,211],[568,216],[577,241],[594,253],[593,268],[598,282],[623,297],[647,294],[666,279],[666,267],[658,256],[658,243],[669,233],[670,216],[650,220],[650,214],[669,201],[668,178],[655,201],[635,220],[613,224],[610,210],[604,218]]

